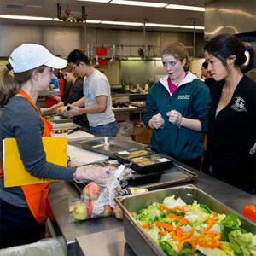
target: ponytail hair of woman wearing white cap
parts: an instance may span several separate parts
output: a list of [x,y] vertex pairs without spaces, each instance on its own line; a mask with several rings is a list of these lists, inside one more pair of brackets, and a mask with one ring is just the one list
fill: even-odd
[[[11,67],[10,64],[8,66]],[[10,97],[15,96],[19,92],[23,83],[32,78],[34,70],[43,73],[45,67],[42,65],[25,72],[14,73],[13,76],[9,73],[7,66],[0,67],[0,107],[2,108]]]

